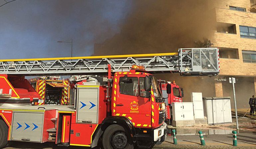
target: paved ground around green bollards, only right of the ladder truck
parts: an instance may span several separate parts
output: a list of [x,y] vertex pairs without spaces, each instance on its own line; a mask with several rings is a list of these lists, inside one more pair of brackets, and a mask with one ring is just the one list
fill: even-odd
[[200,145],[199,135],[177,135],[178,144],[173,144],[173,136],[168,136],[166,141],[157,148],[204,148],[204,149],[222,149],[222,148],[242,148],[256,149],[256,133],[239,133],[237,134],[237,147],[232,146],[232,134],[225,135],[204,135],[205,146]]

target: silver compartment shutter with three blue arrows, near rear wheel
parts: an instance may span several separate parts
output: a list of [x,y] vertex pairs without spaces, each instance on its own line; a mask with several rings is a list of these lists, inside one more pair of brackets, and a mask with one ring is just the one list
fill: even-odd
[[13,112],[11,140],[41,142],[44,113]]

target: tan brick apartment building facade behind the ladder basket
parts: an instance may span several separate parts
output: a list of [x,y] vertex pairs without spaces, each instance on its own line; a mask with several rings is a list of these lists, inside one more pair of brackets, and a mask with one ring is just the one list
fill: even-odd
[[232,95],[228,78],[233,76],[237,80],[239,108],[246,108],[249,97],[256,94],[256,2],[209,0],[208,7],[216,19],[210,38],[220,54],[220,74],[214,79],[215,96]]

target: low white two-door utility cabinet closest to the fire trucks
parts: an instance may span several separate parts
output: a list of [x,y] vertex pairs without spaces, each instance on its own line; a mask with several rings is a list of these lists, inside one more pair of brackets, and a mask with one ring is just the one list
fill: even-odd
[[194,120],[192,102],[174,102],[172,107],[174,121]]

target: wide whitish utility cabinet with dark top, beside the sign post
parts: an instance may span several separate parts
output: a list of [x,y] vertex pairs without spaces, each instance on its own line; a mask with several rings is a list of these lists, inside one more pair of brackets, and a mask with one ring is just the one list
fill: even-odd
[[232,122],[230,97],[204,97],[203,106],[208,124]]

